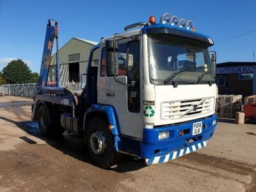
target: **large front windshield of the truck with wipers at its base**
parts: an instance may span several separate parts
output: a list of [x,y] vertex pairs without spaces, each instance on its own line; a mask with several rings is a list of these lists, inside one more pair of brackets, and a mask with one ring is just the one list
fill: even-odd
[[207,45],[166,34],[148,35],[150,78],[153,80],[213,80]]

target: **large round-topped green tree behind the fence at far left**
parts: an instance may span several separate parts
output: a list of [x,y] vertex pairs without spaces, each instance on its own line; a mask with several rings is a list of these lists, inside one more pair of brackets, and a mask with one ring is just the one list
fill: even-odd
[[31,70],[22,60],[10,61],[2,72],[7,84],[31,82]]

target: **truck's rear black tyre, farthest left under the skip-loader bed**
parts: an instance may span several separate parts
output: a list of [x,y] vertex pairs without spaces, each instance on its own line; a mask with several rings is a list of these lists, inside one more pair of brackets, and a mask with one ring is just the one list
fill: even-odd
[[47,111],[43,105],[40,105],[38,109],[38,127],[40,134],[43,136],[49,136],[49,119]]

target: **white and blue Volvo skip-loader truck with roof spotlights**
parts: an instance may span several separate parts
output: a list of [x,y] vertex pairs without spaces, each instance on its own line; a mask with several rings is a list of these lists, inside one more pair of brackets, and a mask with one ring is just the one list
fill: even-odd
[[92,48],[78,94],[59,86],[58,61],[56,86],[47,86],[58,40],[58,23],[49,20],[32,108],[40,133],[76,134],[102,168],[119,154],[157,164],[205,147],[217,124],[212,39],[168,13],[124,30]]

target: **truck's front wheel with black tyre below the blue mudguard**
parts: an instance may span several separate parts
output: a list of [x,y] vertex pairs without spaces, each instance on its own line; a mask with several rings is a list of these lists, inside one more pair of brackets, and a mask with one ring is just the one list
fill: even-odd
[[87,133],[87,146],[93,161],[102,168],[115,164],[118,154],[115,152],[113,136],[108,131],[106,122],[101,118],[93,118]]

